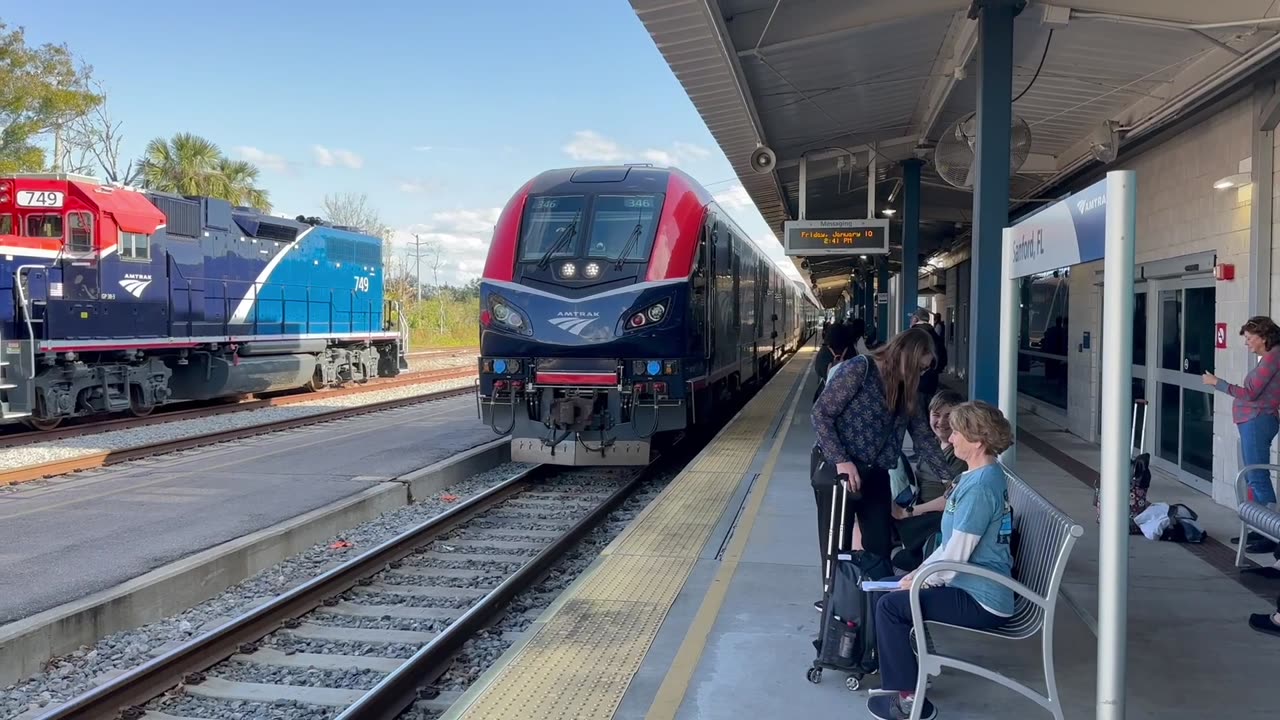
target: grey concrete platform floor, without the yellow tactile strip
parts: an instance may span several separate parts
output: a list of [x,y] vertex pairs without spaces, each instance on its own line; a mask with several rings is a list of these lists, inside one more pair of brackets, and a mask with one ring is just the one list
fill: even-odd
[[[812,396],[812,380],[801,392]],[[749,529],[741,564],[705,648],[689,674],[675,717],[870,717],[865,710],[867,692],[847,691],[841,674],[827,671],[818,685],[805,679],[819,618],[813,602],[820,593],[817,518],[806,477],[813,442],[808,406],[801,400],[801,411],[790,425],[760,512]],[[1032,433],[1048,432],[1033,421],[1024,421],[1023,427]],[[1092,452],[1096,462],[1096,447],[1079,441],[1068,446],[1061,437],[1051,439],[1076,459],[1087,459]],[[1066,717],[1093,717],[1096,638],[1091,625],[1097,596],[1097,525],[1092,489],[1028,445],[1020,446],[1016,469],[1085,528],[1085,537],[1071,556],[1053,637]],[[1165,482],[1175,480],[1157,479]],[[1152,498],[1178,497],[1175,491],[1157,484]],[[1220,534],[1224,523],[1230,525],[1229,510],[1203,496],[1192,506],[1221,542],[1230,537]],[[748,529],[736,529],[744,530]],[[1220,559],[1206,560],[1198,551],[1203,548],[1142,537],[1130,542],[1126,716],[1134,720],[1275,717],[1280,641],[1249,630],[1245,620],[1249,612],[1274,607],[1275,597],[1267,602],[1265,593],[1280,594],[1280,582],[1270,582],[1275,584],[1270,591],[1266,585],[1247,588],[1234,573],[1210,561]],[[691,632],[690,624],[717,564],[714,551],[704,553],[614,717],[645,717],[663,679],[678,673],[672,669],[672,660]],[[1042,680],[1037,682],[1038,637],[1009,642],[940,630],[934,639],[942,652],[1043,687]],[[878,676],[869,678],[868,684],[878,685]],[[940,717],[1050,717],[1016,693],[956,670],[934,679],[929,697],[937,702]],[[658,716],[671,715],[649,715]]]

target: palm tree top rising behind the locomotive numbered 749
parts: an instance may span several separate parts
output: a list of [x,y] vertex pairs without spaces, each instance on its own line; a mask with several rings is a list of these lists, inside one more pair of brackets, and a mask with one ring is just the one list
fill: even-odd
[[227,158],[218,145],[198,135],[180,132],[168,141],[157,137],[142,154],[142,183],[160,192],[220,197],[270,211],[268,193],[256,182],[255,165]]

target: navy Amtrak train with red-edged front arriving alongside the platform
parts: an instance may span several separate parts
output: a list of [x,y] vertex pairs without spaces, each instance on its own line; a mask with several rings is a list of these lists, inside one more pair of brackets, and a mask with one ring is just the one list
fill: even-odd
[[512,460],[643,465],[813,333],[819,307],[677,169],[549,170],[480,284],[481,419]]

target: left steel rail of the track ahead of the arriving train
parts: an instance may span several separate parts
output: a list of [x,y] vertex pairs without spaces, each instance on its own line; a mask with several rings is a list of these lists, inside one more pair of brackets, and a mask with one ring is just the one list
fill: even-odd
[[285,623],[306,615],[328,598],[351,589],[364,578],[380,573],[387,565],[412,553],[415,548],[509,498],[545,473],[544,465],[530,468],[270,602],[72,698],[65,705],[41,715],[38,720],[141,717],[143,714],[141,706],[146,702],[173,687],[198,682],[202,679],[201,671],[237,652],[251,652],[260,639],[280,629]]

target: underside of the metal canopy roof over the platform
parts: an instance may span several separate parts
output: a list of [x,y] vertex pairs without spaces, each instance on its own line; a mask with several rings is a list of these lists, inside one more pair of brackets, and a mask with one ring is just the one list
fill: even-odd
[[[969,0],[631,4],[778,238],[783,222],[799,218],[801,156],[806,219],[865,218],[874,156],[877,214],[897,209],[896,272],[900,163],[919,158],[913,265],[966,258],[972,183],[946,182],[934,156],[975,111],[978,23]],[[1011,214],[1101,177],[1100,158],[1114,163],[1110,150],[1123,160],[1179,118],[1245,87],[1280,55],[1280,22],[1268,15],[1280,15],[1272,0],[1027,4],[1014,28],[1012,96],[1030,141],[1012,177]],[[763,173],[751,164],[762,146],[776,156]],[[824,259],[803,274],[829,305],[860,263]]]

